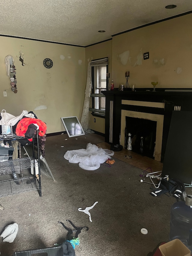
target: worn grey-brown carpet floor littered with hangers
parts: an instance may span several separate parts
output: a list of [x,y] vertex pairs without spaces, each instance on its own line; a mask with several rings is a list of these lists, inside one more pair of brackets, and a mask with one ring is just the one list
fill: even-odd
[[[55,181],[42,173],[42,197],[38,191],[0,197],[4,207],[0,210],[0,233],[14,222],[19,226],[12,243],[0,237],[1,255],[63,242],[67,230],[58,221],[72,228],[67,219],[77,227],[89,227],[79,234],[76,256],[146,256],[158,243],[169,241],[170,209],[176,199],[165,194],[152,197],[151,185],[140,182],[141,169],[114,157],[115,164],[101,164],[95,171],[83,170],[64,159],[67,150],[86,148],[89,142],[102,143],[104,137],[47,137],[45,158]],[[96,201],[90,222],[78,208],[85,209]],[[141,228],[148,234],[142,234]]]

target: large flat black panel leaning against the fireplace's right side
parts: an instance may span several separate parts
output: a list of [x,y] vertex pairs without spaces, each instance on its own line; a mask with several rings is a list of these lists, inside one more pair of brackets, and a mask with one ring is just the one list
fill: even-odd
[[191,127],[191,111],[173,111],[161,174],[189,185],[192,184]]

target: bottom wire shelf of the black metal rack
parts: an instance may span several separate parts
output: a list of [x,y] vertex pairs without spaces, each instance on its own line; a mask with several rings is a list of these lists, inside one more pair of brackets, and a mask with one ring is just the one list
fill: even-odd
[[38,189],[39,182],[36,176],[4,180],[0,182],[0,197]]

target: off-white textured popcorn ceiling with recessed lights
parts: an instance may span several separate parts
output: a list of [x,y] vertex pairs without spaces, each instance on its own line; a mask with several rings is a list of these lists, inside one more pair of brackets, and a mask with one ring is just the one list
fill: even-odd
[[[165,9],[166,5],[177,5]],[[191,0],[16,0],[0,2],[0,34],[87,46],[192,10]],[[105,33],[98,33],[105,30]]]

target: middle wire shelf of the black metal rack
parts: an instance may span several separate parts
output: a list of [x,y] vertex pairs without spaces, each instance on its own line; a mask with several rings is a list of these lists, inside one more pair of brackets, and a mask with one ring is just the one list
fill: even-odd
[[22,173],[22,169],[34,166],[35,164],[33,164],[33,161],[29,157],[3,161],[0,163],[0,175],[10,174],[12,172]]

